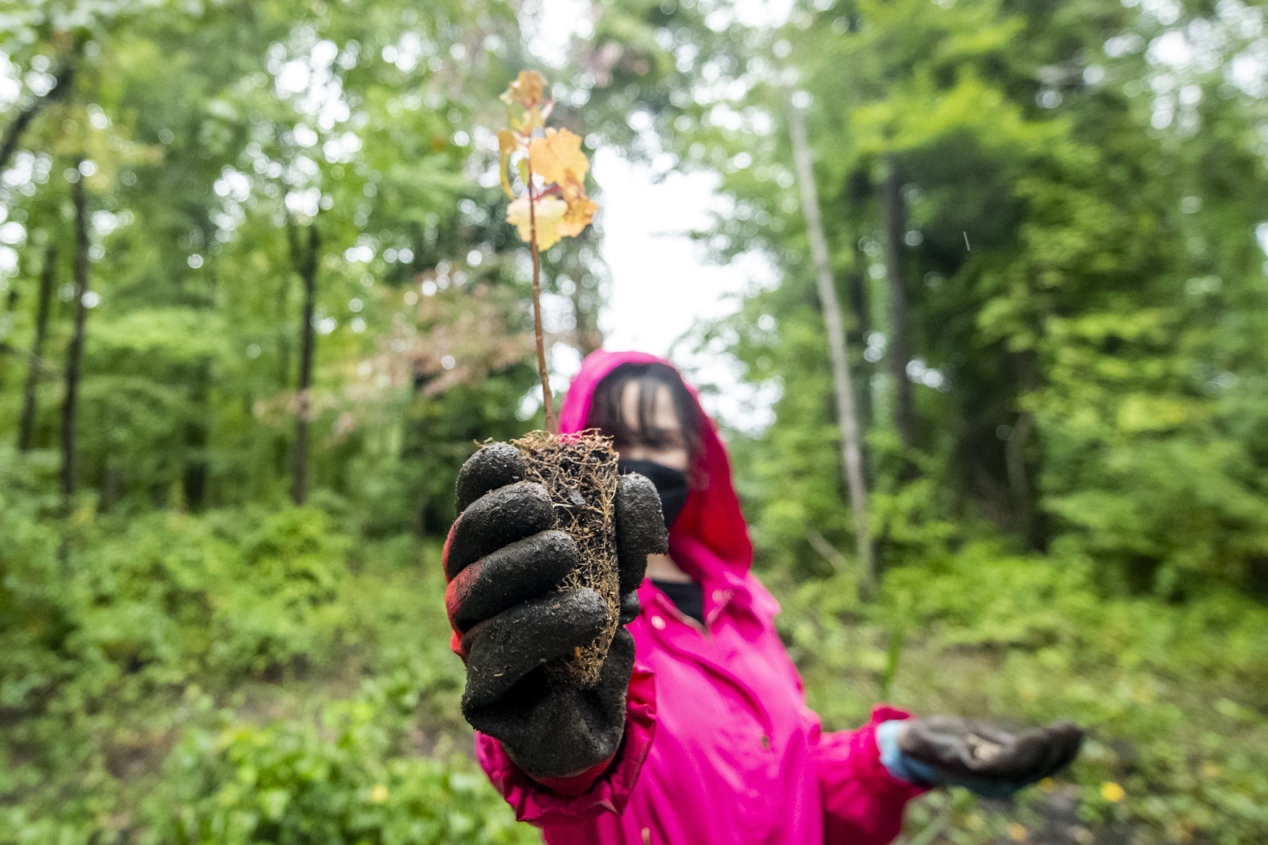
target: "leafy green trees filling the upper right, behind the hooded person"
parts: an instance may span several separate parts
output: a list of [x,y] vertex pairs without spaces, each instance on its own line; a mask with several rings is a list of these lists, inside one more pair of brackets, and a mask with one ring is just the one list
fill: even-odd
[[[692,98],[645,98],[659,142],[734,198],[701,237],[720,259],[762,250],[782,275],[695,337],[780,392],[752,450],[763,548],[823,575],[809,532],[851,544],[782,122],[795,85],[850,341],[869,349],[853,367],[883,560],[937,556],[994,525],[1022,547],[1092,556],[1116,587],[1257,589],[1263,94],[1211,69],[1245,60],[1262,9],[862,1],[803,4],[772,29],[648,5],[611,23],[631,19],[656,46],[630,39],[624,62],[675,56],[677,74],[710,80]],[[1221,33],[1201,58],[1163,49],[1200,29]],[[600,25],[595,38],[610,37]],[[673,79],[643,85],[676,91]],[[890,232],[879,194],[894,173],[905,219]],[[894,422],[891,237],[914,449]]]

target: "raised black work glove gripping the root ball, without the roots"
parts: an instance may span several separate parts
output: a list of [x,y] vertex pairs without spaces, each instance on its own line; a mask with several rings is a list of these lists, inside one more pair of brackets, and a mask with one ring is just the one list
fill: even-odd
[[598,683],[578,689],[550,678],[545,664],[572,655],[607,623],[607,605],[588,589],[558,590],[576,566],[572,538],[554,530],[545,487],[524,481],[524,459],[506,443],[487,445],[458,475],[458,521],[445,548],[445,605],[467,662],[463,716],[502,742],[530,776],[562,778],[616,752],[625,730],[625,689],[647,556],[668,539],[656,486],[638,475],[616,486],[620,622]]

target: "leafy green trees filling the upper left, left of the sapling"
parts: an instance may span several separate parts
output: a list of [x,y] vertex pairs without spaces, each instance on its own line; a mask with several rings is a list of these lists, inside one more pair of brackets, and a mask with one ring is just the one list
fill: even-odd
[[[347,499],[380,532],[441,523],[434,491],[454,457],[519,434],[533,386],[505,198],[468,175],[487,159],[472,141],[487,122],[478,109],[519,70],[505,65],[517,56],[506,8],[268,3],[245,19],[216,4],[19,3],[6,22],[13,115],[41,104],[41,80],[76,74],[4,162],[5,430],[24,403],[20,378],[6,376],[25,376],[13,353],[34,334],[36,285],[56,247],[36,445],[58,445],[76,250],[66,174],[82,155],[95,298],[80,415],[95,424],[79,426],[76,482],[103,510],[197,511],[289,488],[301,247],[316,232],[309,487]],[[440,57],[468,43],[486,48],[450,74]],[[429,297],[450,301],[439,321]],[[454,318],[464,310],[478,324]],[[436,322],[435,341],[420,343]],[[427,406],[450,390],[470,395],[448,415],[462,425],[436,430]],[[439,466],[394,475],[418,444]]]

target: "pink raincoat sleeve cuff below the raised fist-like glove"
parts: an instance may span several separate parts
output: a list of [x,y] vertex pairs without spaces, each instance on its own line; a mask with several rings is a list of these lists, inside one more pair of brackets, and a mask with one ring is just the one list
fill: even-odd
[[[567,825],[604,812],[620,815],[629,802],[656,731],[656,683],[639,666],[625,698],[625,736],[616,755],[572,778],[538,782],[511,760],[502,743],[476,733],[476,757],[515,817],[533,825]],[[879,765],[879,764],[877,764]]]

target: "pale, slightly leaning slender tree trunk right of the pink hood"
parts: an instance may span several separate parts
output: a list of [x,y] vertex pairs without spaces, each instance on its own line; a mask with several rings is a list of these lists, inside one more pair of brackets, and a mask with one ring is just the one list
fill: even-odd
[[810,239],[810,258],[814,261],[819,287],[823,321],[828,331],[828,353],[832,358],[832,384],[837,393],[837,424],[841,426],[841,462],[850,490],[850,510],[855,519],[855,542],[858,554],[860,590],[870,596],[876,580],[872,562],[871,528],[867,523],[867,487],[864,480],[862,453],[858,448],[858,419],[855,416],[855,395],[850,383],[850,358],[846,351],[846,330],[837,301],[837,285],[832,278],[828,240],[823,233],[819,214],[819,193],[814,184],[814,166],[810,162],[810,145],[806,141],[805,122],[800,109],[789,108],[789,134],[792,141],[792,160],[796,165],[801,189],[801,207],[806,233]]

